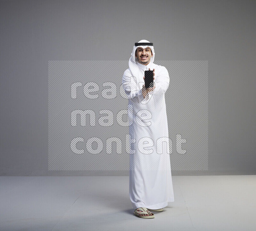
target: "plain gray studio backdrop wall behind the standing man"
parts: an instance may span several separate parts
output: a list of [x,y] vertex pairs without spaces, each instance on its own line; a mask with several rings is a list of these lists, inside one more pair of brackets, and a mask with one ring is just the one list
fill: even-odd
[[[172,174],[255,174],[255,10],[255,1],[1,1],[0,175],[129,175],[119,87],[141,39],[170,76]],[[89,82],[98,98],[86,97]],[[95,126],[79,115],[75,126],[72,111],[86,109]],[[112,137],[122,154],[114,143],[109,153]]]

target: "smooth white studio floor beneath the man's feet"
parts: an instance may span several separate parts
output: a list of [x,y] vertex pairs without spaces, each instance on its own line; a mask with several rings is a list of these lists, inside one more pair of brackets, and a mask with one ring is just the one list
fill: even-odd
[[1,176],[1,231],[256,230],[256,175],[173,176],[175,202],[133,215],[128,176]]

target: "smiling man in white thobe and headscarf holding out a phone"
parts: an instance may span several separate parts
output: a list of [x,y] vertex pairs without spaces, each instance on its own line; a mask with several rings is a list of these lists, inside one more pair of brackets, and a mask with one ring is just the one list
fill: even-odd
[[[129,96],[129,197],[133,214],[154,218],[174,201],[164,93],[169,86],[165,67],[154,64],[153,43],[133,46],[122,86]],[[144,71],[153,71],[154,85],[145,88]]]

